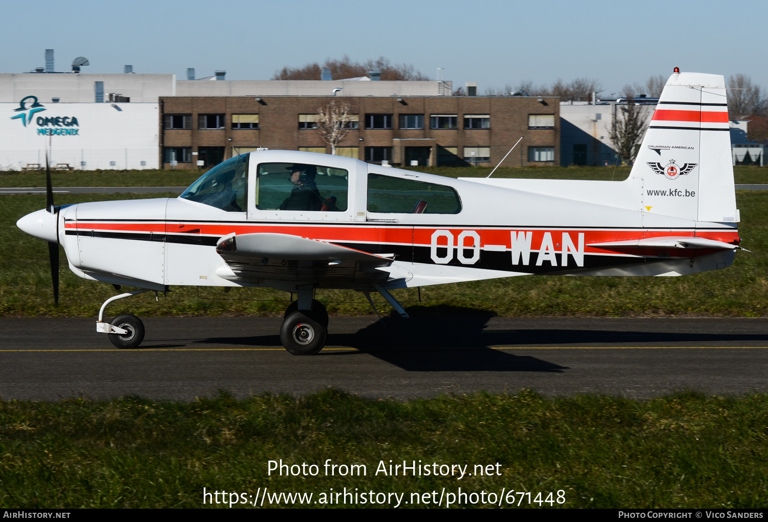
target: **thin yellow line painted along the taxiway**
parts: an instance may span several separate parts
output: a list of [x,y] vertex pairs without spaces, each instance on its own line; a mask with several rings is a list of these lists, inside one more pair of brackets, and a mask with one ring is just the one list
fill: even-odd
[[[661,350],[661,349],[768,349],[768,346],[492,346],[492,350]],[[328,352],[360,351],[356,348],[326,348]],[[135,349],[28,349],[0,352],[283,352],[284,348],[135,348]]]

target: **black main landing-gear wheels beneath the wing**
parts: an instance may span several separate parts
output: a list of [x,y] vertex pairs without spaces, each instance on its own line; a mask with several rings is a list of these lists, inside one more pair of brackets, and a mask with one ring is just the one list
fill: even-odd
[[300,310],[294,301],[280,327],[280,342],[293,355],[314,355],[323,349],[328,335],[328,312],[312,300],[311,310]]

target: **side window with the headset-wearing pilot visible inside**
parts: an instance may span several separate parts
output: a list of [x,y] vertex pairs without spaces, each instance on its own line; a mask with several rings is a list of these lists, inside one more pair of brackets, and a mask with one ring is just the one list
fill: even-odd
[[347,207],[349,173],[322,165],[259,164],[256,208],[343,212]]

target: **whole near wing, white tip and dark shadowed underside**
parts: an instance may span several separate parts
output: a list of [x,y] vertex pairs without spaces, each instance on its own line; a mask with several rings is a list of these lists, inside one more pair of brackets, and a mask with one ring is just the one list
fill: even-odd
[[227,266],[224,279],[242,282],[280,280],[320,282],[323,286],[354,287],[386,282],[392,255],[376,255],[326,241],[278,233],[230,234],[216,244]]

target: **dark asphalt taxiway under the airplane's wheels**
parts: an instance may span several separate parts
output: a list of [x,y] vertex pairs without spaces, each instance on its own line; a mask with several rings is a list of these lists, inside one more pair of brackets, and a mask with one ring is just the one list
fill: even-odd
[[280,346],[281,318],[146,318],[138,349],[115,349],[94,319],[0,319],[0,397],[227,390],[302,395],[329,386],[371,398],[534,388],[645,398],[677,390],[768,391],[768,319],[332,317],[326,349]]

